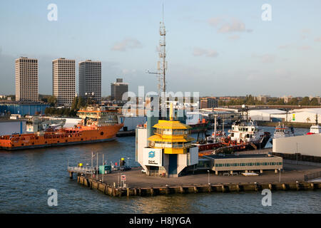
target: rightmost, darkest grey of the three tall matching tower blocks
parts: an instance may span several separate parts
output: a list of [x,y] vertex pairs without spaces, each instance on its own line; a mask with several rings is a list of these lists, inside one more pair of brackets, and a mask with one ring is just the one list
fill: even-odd
[[86,60],[79,65],[79,95],[101,103],[101,62]]

